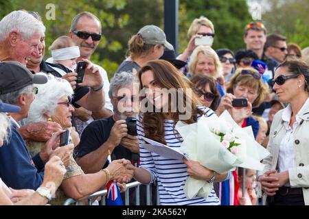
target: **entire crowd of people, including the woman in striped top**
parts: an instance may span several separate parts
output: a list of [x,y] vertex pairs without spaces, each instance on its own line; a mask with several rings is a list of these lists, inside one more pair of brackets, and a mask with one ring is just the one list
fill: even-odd
[[[0,21],[0,205],[62,205],[109,181],[121,192],[130,181],[155,183],[160,205],[260,205],[262,196],[268,205],[309,205],[308,47],[252,22],[244,25],[245,49],[214,50],[215,27],[201,16],[178,55],[161,28],[146,25],[128,40],[110,83],[91,62],[102,36],[97,16],[77,14],[46,59],[45,31],[36,12]],[[219,174],[143,146],[149,138],[179,149],[179,120],[192,124],[225,110],[271,153],[263,171]],[[207,198],[185,196],[189,176],[211,183]]]

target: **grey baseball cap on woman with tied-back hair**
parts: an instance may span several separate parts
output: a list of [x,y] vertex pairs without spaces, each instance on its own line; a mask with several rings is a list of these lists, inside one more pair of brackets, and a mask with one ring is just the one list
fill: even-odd
[[143,38],[146,44],[164,44],[166,48],[170,50],[174,49],[172,44],[166,40],[164,31],[156,25],[146,25],[137,34],[141,34],[141,38]]

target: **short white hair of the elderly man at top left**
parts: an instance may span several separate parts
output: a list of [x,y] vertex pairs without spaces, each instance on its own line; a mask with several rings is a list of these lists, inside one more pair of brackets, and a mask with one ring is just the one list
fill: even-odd
[[23,40],[30,40],[34,34],[43,35],[45,26],[27,12],[14,11],[0,21],[0,42],[7,39],[12,31],[18,31]]

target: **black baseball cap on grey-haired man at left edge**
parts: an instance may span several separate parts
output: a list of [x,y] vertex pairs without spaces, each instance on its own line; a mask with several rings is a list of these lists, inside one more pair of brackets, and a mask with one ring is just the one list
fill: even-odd
[[19,62],[0,62],[0,94],[15,92],[33,83],[46,82],[47,77],[32,74]]

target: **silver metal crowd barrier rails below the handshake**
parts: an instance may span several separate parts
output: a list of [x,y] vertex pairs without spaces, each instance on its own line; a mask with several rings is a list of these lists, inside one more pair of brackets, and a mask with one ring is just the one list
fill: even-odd
[[[135,188],[135,205],[139,205],[139,183],[138,181],[135,181],[133,183],[126,184],[126,192],[124,193],[124,205],[129,205],[129,191],[131,188]],[[156,203],[152,203],[152,192],[151,187],[153,184],[146,185],[146,205],[159,205],[159,195],[157,195]],[[157,186],[157,194],[159,194],[159,186]],[[93,201],[95,201],[96,198],[101,197],[101,205],[106,205],[105,197],[107,195],[107,190],[102,190],[95,192],[88,196],[87,198],[84,198],[82,200],[74,200],[73,198],[68,198],[63,205],[84,205],[87,202],[87,205],[93,205]]]

